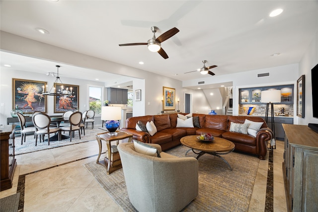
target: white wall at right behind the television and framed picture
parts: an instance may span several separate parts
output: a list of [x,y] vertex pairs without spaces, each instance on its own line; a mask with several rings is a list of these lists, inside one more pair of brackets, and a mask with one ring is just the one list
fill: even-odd
[[[308,47],[304,57],[299,63],[298,77],[305,74],[305,118],[297,117],[299,125],[308,123],[318,124],[318,119],[313,117],[312,73],[311,70],[318,64],[318,32]],[[318,92],[318,91],[317,91]]]

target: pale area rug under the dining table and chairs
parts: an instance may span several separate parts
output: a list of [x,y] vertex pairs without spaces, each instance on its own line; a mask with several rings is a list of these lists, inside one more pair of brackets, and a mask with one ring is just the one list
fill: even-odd
[[[21,137],[15,137],[15,148],[14,152],[15,155],[19,154],[24,154],[24,153],[29,153],[29,152],[34,152],[34,151],[40,151],[40,150],[45,150],[45,149],[50,149],[50,148],[56,148],[60,146],[65,146],[65,145],[72,145],[75,143],[80,143],[80,142],[86,142],[86,141],[92,141],[95,140],[95,134],[97,133],[103,133],[105,132],[105,128],[85,128],[85,136],[84,134],[80,135],[79,139],[79,133],[75,132],[75,137],[72,138],[72,142],[70,139],[62,140],[62,141],[50,141],[50,145],[48,145],[47,141],[40,142],[40,138],[38,138],[37,145],[35,146],[35,139],[34,135],[28,135],[26,136],[25,142],[21,145]],[[51,134],[53,136],[54,134]],[[69,135],[68,132],[65,132],[65,134],[62,133],[62,135]],[[45,136],[45,139],[47,139],[47,136]]]

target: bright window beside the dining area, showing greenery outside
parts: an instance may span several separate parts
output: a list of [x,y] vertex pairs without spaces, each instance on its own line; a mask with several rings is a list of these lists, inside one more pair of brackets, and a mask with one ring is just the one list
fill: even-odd
[[89,110],[95,111],[95,114],[101,114],[101,106],[103,101],[103,87],[88,85],[88,105]]

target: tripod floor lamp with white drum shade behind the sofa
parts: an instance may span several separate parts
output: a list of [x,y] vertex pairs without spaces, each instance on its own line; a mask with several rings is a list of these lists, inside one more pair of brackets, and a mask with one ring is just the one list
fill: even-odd
[[[265,112],[265,121],[267,124],[268,120],[268,108],[269,104],[271,106],[271,118],[272,118],[272,131],[275,137],[275,122],[274,122],[274,105],[273,103],[279,103],[281,99],[280,90],[264,90],[261,91],[261,98],[262,103],[266,103],[266,112]],[[273,145],[273,148],[276,148],[276,143]]]

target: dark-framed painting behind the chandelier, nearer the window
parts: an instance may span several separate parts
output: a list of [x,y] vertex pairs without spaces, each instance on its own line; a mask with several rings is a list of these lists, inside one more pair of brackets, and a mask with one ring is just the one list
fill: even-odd
[[54,83],[57,93],[54,96],[54,113],[64,113],[79,108],[79,85]]

